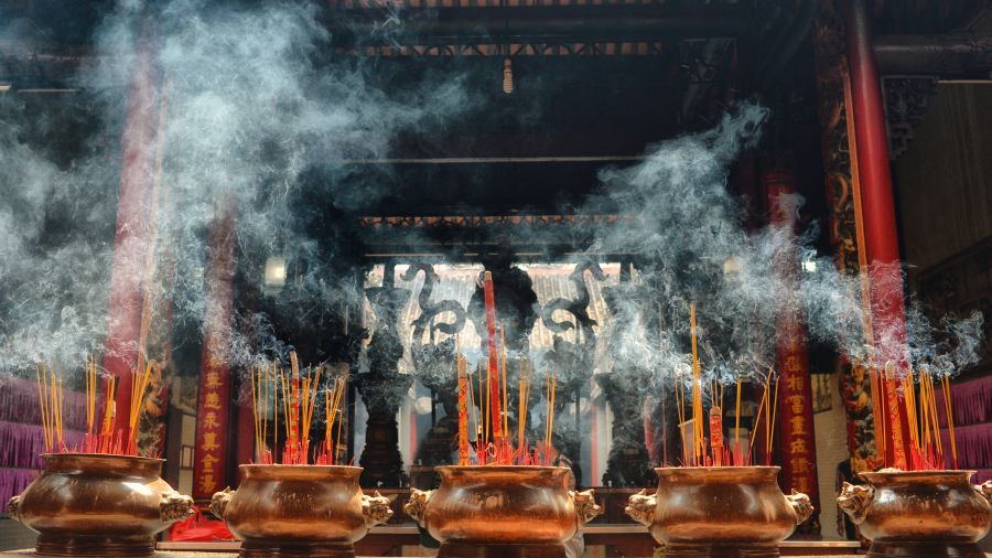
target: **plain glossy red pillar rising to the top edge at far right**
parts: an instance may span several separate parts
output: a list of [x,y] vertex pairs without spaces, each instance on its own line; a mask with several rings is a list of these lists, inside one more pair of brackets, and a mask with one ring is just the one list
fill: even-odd
[[[848,64],[851,73],[858,172],[864,244],[870,266],[871,344],[878,351],[875,366],[895,364],[895,373],[906,366],[906,312],[896,228],[895,200],[885,136],[882,84],[872,51],[871,10],[867,0],[843,0]],[[887,376],[887,375],[886,375]],[[886,462],[905,469],[908,423],[895,378],[882,383],[888,441]]]

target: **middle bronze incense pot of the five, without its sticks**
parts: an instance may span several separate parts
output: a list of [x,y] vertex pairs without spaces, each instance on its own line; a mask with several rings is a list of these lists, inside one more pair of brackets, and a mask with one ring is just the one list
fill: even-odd
[[599,515],[592,491],[569,490],[563,466],[439,466],[435,491],[411,489],[403,511],[441,541],[439,557],[564,558]]

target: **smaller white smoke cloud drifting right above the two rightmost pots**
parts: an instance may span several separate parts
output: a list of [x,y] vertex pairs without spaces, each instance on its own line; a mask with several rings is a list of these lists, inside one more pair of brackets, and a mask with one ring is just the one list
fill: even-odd
[[[621,326],[622,334],[612,335],[611,356],[622,363],[614,373],[633,366],[654,371],[658,382],[677,371],[688,378],[690,303],[699,311],[704,373],[724,383],[763,377],[774,368],[776,325],[784,312],[804,320],[810,339],[833,344],[851,360],[894,354],[897,326],[880,339],[865,330],[870,322],[862,287],[873,281],[885,288],[880,278],[898,278],[899,272],[848,275],[829,258],[819,258],[800,273],[800,261],[816,254],[810,238],[794,234],[789,225],[756,232],[745,227],[743,204],[726,189],[727,173],[736,157],[758,143],[768,116],[767,109],[744,104],[712,130],[660,142],[636,165],[602,171],[601,193],[583,212],[619,213],[629,219],[599,234],[595,251],[644,258],[643,285],[618,287],[627,292],[615,297],[616,321],[646,323],[646,315],[661,315],[656,331]],[[796,214],[801,198],[790,195],[779,206]],[[789,268],[796,275],[783,273]],[[978,360],[980,314],[931,325],[910,305],[908,316],[906,351],[895,353],[912,352],[914,363],[944,374]]]

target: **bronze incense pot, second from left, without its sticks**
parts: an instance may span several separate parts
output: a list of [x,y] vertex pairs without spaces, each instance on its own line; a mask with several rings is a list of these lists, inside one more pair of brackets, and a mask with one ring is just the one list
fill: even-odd
[[241,484],[211,512],[242,540],[242,558],[351,558],[354,543],[392,516],[389,500],[358,487],[360,466],[241,465]]

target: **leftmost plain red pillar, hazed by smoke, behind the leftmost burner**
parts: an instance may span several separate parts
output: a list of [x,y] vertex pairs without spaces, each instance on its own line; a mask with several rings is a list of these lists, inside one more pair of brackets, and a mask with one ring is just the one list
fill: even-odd
[[110,268],[109,324],[104,367],[117,377],[116,431],[128,431],[131,400],[131,369],[138,363],[141,344],[145,264],[154,249],[151,219],[154,153],[159,98],[150,46],[142,44],[136,56],[128,93],[127,118],[121,136],[122,162],[117,225],[114,233],[114,262]]

